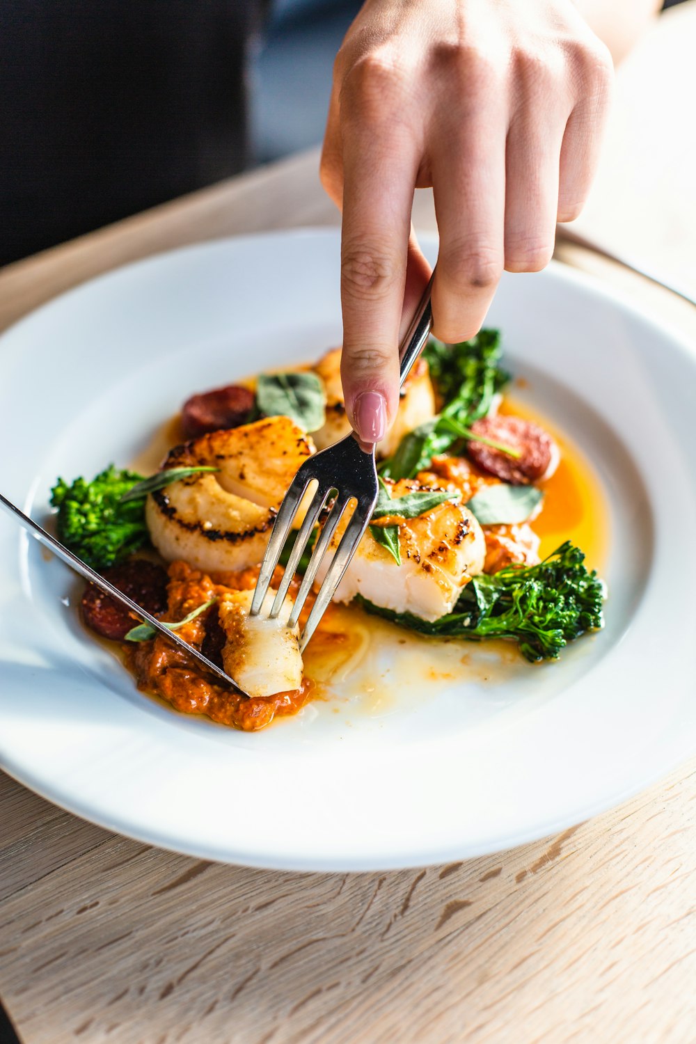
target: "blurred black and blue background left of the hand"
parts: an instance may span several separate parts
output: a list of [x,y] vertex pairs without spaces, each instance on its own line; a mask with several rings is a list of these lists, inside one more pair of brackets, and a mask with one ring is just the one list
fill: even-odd
[[0,265],[318,144],[360,6],[0,0]]

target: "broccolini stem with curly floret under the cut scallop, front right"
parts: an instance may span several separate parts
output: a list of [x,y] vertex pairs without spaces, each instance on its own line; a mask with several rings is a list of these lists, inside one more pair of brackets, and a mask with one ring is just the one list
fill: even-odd
[[511,638],[526,660],[555,660],[586,631],[604,625],[603,580],[583,565],[584,554],[570,541],[537,566],[508,566],[475,576],[454,612],[429,622],[411,613],[393,613],[358,596],[370,613],[426,635],[458,638]]

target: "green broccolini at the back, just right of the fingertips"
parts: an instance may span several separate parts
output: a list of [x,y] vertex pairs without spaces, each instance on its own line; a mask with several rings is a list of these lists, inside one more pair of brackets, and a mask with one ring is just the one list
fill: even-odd
[[424,354],[442,401],[441,412],[410,431],[394,455],[382,465],[381,473],[394,479],[412,478],[427,468],[434,456],[445,453],[460,440],[476,440],[510,456],[519,456],[517,449],[481,438],[471,431],[471,425],[486,416],[494,396],[510,379],[507,371],[499,365],[498,330],[481,330],[476,337],[459,345],[443,345],[431,338]]

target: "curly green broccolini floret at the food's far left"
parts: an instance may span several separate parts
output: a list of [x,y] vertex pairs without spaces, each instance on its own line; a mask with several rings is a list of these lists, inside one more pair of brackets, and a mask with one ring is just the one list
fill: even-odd
[[121,501],[142,477],[110,465],[91,482],[76,478],[69,485],[59,478],[51,490],[58,539],[93,569],[107,569],[149,545],[143,502]]

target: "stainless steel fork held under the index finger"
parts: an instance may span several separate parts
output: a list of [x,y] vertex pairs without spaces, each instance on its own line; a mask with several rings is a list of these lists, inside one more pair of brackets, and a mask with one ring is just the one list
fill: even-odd
[[[430,334],[432,327],[432,311],[430,308],[432,282],[431,277],[408,331],[402,340],[399,353],[401,363],[400,387],[406,380],[411,366],[421,354]],[[271,576],[280,561],[285,542],[292,529],[297,508],[303,502],[309,485],[313,482],[316,482],[316,488],[295,542],[292,545],[283,579],[270,608],[268,615],[271,618],[277,617],[281,611],[292,577],[307,547],[307,542],[325,504],[332,494],[335,493],[334,502],[321,527],[321,532],[312,551],[307,571],[299,585],[297,596],[288,618],[289,626],[294,626],[297,622],[321,561],[329,550],[336,526],[352,501],[355,501],[355,508],[345,527],[345,532],[336,548],[301,635],[299,647],[302,649],[305,648],[307,642],[314,634],[317,623],[323,616],[329,602],[336,592],[336,588],[341,582],[343,573],[349,567],[351,559],[355,554],[360,538],[369,524],[379,488],[377,468],[375,466],[375,447],[373,446],[369,450],[362,449],[355,432],[352,432],[345,438],[341,438],[339,443],[335,443],[328,449],[321,450],[320,453],[309,457],[299,468],[280,506],[270,540],[266,547],[266,553],[261,563],[261,571],[249,611],[251,616],[259,615],[262,607],[265,608],[267,606],[266,594]]]

